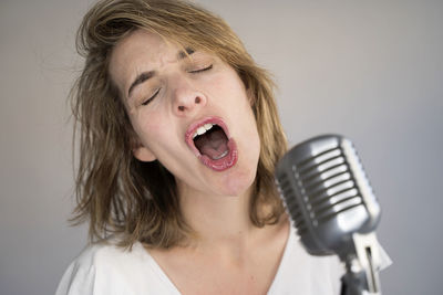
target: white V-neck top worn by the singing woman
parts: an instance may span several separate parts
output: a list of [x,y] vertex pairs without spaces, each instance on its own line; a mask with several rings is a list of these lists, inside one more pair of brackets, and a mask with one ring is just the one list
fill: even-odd
[[[337,256],[311,256],[291,228],[268,295],[337,295],[344,268]],[[55,295],[181,295],[155,260],[135,243],[132,251],[93,244],[64,273]]]

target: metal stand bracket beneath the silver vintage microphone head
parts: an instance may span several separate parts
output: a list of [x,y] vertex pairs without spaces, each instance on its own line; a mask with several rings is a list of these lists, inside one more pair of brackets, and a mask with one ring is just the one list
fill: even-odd
[[341,295],[381,295],[381,255],[375,233],[353,233],[352,244],[354,251],[340,256],[347,270],[341,277]]

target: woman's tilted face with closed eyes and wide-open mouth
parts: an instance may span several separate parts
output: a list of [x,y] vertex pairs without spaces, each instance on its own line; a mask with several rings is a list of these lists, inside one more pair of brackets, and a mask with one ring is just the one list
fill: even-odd
[[137,136],[137,159],[162,162],[181,193],[247,191],[260,143],[250,97],[229,65],[137,30],[115,46],[110,74]]

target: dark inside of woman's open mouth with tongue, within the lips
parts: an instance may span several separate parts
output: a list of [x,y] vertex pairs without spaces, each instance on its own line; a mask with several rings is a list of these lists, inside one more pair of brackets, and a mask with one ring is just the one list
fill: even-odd
[[[214,129],[214,130],[213,130]],[[195,139],[195,146],[202,155],[213,160],[226,156],[228,151],[228,139],[222,128],[213,128]]]

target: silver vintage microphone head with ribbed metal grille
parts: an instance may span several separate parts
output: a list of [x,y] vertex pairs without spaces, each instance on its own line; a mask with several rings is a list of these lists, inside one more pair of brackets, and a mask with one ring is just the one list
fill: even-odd
[[306,250],[344,256],[352,234],[369,233],[380,221],[372,192],[352,143],[339,135],[295,146],[277,165],[276,182]]

